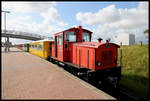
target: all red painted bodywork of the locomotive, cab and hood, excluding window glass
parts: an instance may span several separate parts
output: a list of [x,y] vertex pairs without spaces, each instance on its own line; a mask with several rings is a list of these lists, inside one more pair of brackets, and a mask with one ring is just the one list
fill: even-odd
[[[65,41],[66,31],[76,32],[76,42]],[[59,61],[70,62],[81,68],[89,68],[94,71],[116,67],[117,49],[119,46],[108,41],[106,43],[82,42],[82,32],[89,33],[91,40],[92,32],[82,29],[81,26],[56,33],[55,44],[52,45],[52,56]],[[62,35],[63,39],[61,45],[57,43],[59,35]],[[67,46],[68,48],[66,48]],[[98,66],[98,62],[100,62],[100,66]]]

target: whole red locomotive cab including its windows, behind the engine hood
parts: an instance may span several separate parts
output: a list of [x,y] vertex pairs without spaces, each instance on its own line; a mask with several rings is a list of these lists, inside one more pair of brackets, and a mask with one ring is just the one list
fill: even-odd
[[72,44],[91,41],[92,32],[81,26],[55,34],[55,58],[62,62],[72,61]]

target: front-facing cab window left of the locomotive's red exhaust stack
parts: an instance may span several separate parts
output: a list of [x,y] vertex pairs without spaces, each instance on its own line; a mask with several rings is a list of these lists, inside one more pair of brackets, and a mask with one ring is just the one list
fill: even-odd
[[76,42],[76,33],[71,31],[66,32],[65,41]]

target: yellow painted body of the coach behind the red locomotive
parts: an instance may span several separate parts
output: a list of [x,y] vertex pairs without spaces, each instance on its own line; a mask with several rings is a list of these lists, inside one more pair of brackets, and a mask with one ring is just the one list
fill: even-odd
[[48,56],[50,56],[49,43],[50,43],[49,41],[30,43],[29,45],[41,44],[42,49],[29,48],[29,53],[40,56],[41,58],[47,59]]

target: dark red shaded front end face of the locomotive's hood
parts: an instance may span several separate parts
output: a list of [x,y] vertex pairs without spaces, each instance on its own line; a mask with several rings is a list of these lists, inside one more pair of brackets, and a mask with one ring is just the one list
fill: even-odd
[[96,70],[117,67],[117,56],[119,46],[109,43],[110,48],[105,48],[107,44],[102,44],[96,49],[96,62],[101,62],[101,66],[96,66]]

